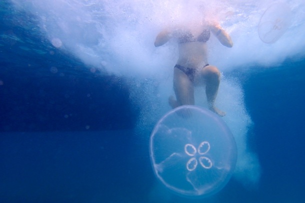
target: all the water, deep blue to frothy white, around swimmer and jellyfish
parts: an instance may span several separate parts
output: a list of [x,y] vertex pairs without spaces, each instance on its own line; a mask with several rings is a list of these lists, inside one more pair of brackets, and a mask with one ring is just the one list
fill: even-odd
[[[265,43],[261,16],[281,3],[272,14],[289,25]],[[302,0],[1,0],[0,202],[305,202],[304,10]],[[168,22],[215,13],[234,41],[207,43],[238,161],[220,192],[186,199],[149,160],[177,50],[153,41]]]

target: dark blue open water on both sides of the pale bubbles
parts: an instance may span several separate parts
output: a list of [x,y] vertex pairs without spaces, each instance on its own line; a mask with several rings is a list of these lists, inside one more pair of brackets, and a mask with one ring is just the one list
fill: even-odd
[[[33,19],[0,3],[0,203],[149,203],[155,123],[135,138],[130,79],[90,71]],[[217,199],[164,189],[171,198],[159,203],[304,203],[305,59],[223,74],[243,89],[259,183],[232,178]]]

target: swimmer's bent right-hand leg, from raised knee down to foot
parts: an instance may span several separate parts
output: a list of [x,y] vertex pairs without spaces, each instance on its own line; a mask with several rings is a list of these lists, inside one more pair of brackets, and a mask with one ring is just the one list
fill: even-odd
[[215,66],[208,65],[200,70],[199,76],[200,80],[203,79],[205,83],[205,94],[208,108],[219,116],[224,116],[225,112],[220,111],[214,105],[220,83],[219,70]]

